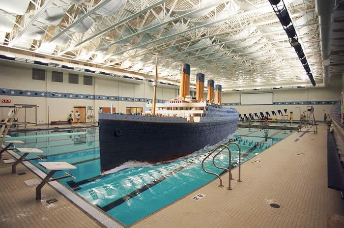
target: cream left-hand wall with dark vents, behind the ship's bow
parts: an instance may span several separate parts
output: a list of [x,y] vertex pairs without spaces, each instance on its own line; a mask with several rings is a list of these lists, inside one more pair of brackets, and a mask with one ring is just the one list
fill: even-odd
[[[105,96],[122,96],[134,98],[152,99],[153,87],[149,82],[125,82],[115,81],[114,79],[102,79],[101,77],[93,77],[93,85],[84,85],[84,75],[89,75],[85,72],[79,73],[79,84],[68,83],[68,73],[78,73],[68,70],[63,71],[63,83],[52,82],[51,68],[46,68],[46,81],[32,80],[32,67],[15,65],[14,63],[0,63],[0,88],[20,89],[20,90],[35,90],[42,92],[60,92],[60,93],[76,93],[76,94],[96,94]],[[36,67],[35,68],[39,68]],[[24,95],[26,92],[24,92]],[[63,94],[61,94],[63,96]],[[177,96],[177,88],[170,88],[167,86],[158,86],[157,99],[168,100]],[[96,107],[110,107],[113,102],[116,112],[125,113],[126,107],[142,107],[145,109],[145,102],[134,101],[115,101],[115,100],[97,100],[97,99],[72,99],[72,98],[46,98],[46,97],[29,97],[29,96],[4,96],[0,94],[0,99],[11,99],[10,104],[1,103],[2,105],[13,104],[31,104],[38,105],[37,108],[37,122],[45,124],[48,122],[48,106],[49,106],[49,122],[56,120],[66,120],[70,111],[74,106],[93,106]],[[8,109],[2,109],[0,118],[5,118]],[[96,118],[98,113],[95,112]],[[25,120],[25,110],[22,109],[17,116],[19,121]],[[27,109],[26,121],[34,122],[35,113],[33,109]]]

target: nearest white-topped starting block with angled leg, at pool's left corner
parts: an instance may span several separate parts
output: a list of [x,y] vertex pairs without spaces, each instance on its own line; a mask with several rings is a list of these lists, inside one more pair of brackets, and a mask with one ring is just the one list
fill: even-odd
[[[56,178],[52,178],[52,176],[55,174],[57,171],[61,170],[76,170],[77,168],[67,162],[39,162],[38,163],[41,167],[43,167],[46,170],[49,170],[50,172],[44,177],[42,182],[36,187],[36,200],[42,199],[42,194],[41,194],[41,189],[43,186],[50,182],[50,181],[55,181],[55,180],[60,180],[64,179],[67,177],[71,177],[73,179],[76,179],[76,177],[72,176],[71,174],[65,172],[64,176],[59,176]],[[52,178],[52,179],[51,179]]]

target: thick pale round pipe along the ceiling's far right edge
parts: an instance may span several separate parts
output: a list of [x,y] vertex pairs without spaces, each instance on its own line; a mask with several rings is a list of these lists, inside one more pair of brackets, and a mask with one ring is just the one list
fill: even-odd
[[334,12],[338,7],[338,0],[315,0],[315,12],[319,17],[322,65],[324,68],[324,85],[330,84],[330,55],[331,36]]

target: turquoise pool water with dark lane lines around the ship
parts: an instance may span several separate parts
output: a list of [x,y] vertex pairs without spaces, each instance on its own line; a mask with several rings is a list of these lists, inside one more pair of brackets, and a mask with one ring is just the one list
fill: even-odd
[[[233,139],[242,150],[242,162],[283,140],[293,131],[277,129],[238,128]],[[54,176],[68,172],[77,179],[60,180],[90,203],[98,206],[122,224],[129,226],[145,216],[184,197],[214,179],[205,173],[201,161],[212,148],[165,164],[127,162],[113,171],[100,173],[98,128],[73,130],[42,130],[10,134],[25,145],[44,151],[43,155],[29,154],[27,159],[42,171],[38,162],[66,161],[76,170],[58,171]],[[231,145],[232,167],[237,165],[238,151]],[[17,152],[20,154],[19,152]],[[204,163],[209,171],[221,173],[213,166],[212,157]],[[216,157],[216,164],[229,166],[229,154],[224,150]],[[237,178],[234,176],[234,178]]]

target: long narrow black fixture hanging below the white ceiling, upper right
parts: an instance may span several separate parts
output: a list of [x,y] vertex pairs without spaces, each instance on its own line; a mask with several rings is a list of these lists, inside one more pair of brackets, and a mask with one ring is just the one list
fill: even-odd
[[295,52],[297,54],[297,56],[300,59],[300,62],[303,66],[303,68],[306,71],[306,74],[308,75],[311,83],[313,86],[315,86],[315,80],[313,78],[313,74],[311,72],[311,68],[308,64],[307,58],[305,57],[305,54],[302,50],[300,41],[297,37],[294,25],[291,22],[289,13],[287,11],[287,7],[284,3],[284,1],[282,0],[269,0],[270,4],[274,10],[274,12],[276,13],[276,16],[278,17],[278,19],[280,20],[284,30],[287,33],[287,36],[289,37],[289,43],[290,45],[295,49]]

